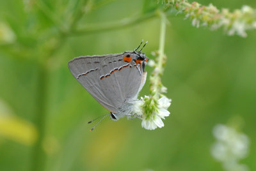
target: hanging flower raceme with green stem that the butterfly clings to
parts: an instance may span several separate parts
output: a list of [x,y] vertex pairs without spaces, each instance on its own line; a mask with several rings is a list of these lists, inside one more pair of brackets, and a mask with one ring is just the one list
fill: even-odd
[[153,59],[148,61],[148,65],[154,68],[150,74],[150,95],[141,97],[141,100],[134,101],[132,114],[134,117],[142,119],[141,126],[146,130],[155,130],[157,127],[162,128],[164,123],[162,119],[170,115],[167,110],[171,105],[170,99],[166,98],[163,93],[167,88],[161,82],[164,66],[166,64],[166,55],[164,54],[164,38],[166,32],[166,16],[159,13],[161,17],[159,50],[152,52]]

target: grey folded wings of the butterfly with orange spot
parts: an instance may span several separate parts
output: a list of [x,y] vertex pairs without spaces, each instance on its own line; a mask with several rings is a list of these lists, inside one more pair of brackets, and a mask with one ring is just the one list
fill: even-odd
[[141,66],[129,52],[107,56],[77,57],[68,63],[72,75],[103,107],[118,112],[125,101],[134,100],[141,87]]

